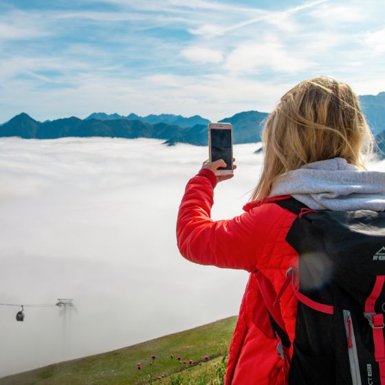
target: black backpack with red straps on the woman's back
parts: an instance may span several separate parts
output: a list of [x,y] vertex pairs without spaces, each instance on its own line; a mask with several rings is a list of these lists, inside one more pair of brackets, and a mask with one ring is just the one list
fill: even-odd
[[276,299],[292,283],[298,309],[289,384],[385,385],[385,212],[274,203],[298,214],[286,237],[298,267],[287,271]]

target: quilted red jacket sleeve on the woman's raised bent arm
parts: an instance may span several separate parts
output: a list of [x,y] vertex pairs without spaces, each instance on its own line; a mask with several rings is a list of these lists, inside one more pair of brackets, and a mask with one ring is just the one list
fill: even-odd
[[252,272],[276,222],[269,207],[276,205],[262,205],[232,219],[213,221],[210,212],[216,179],[212,171],[203,170],[188,181],[179,206],[179,251],[201,265]]

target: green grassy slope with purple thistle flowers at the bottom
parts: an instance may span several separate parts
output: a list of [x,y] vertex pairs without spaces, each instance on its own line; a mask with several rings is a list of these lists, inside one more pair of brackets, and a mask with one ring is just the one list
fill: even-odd
[[[170,375],[175,380],[179,374],[184,379],[183,384],[193,384],[192,377],[199,375],[201,378],[203,374],[210,377],[220,370],[221,358],[228,349],[235,323],[235,316],[225,318],[131,347],[3,377],[0,385],[148,384],[150,376],[153,380],[162,378],[154,384],[168,385]],[[157,356],[155,360],[151,358],[152,354]],[[180,362],[178,355],[181,355]],[[210,356],[207,362],[203,359],[205,355]],[[189,360],[194,363],[189,364]],[[137,369],[139,362],[141,370]]]

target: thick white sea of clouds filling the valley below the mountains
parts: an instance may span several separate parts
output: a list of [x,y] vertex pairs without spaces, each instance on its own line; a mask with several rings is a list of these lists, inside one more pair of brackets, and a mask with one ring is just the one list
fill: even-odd
[[[243,212],[259,146],[234,146],[238,167],[215,188],[212,219]],[[238,313],[248,273],[177,249],[179,203],[207,158],[207,147],[152,139],[0,139],[0,303],[76,305],[26,307],[24,322],[18,307],[0,306],[0,375]]]

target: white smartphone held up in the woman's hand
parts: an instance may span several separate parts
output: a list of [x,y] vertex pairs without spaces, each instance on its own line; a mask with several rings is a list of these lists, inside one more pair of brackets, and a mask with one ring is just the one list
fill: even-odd
[[215,175],[232,174],[232,125],[210,123],[208,125],[208,151],[210,162],[223,159],[227,166],[219,167]]

